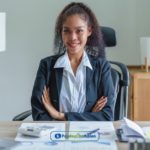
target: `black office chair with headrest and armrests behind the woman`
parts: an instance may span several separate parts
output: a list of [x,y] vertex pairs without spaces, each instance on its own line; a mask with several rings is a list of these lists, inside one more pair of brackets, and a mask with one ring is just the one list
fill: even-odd
[[[101,27],[106,47],[116,46],[115,30],[110,27]],[[115,87],[114,120],[127,117],[128,112],[128,86],[129,72],[127,67],[120,62],[110,61],[111,75]],[[25,111],[13,118],[13,121],[22,121],[32,114],[31,110]]]

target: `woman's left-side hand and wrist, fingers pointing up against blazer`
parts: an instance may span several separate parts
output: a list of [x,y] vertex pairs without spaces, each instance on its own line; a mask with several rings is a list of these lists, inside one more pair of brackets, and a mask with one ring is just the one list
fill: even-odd
[[46,87],[44,87],[43,90],[43,95],[42,95],[42,102],[44,107],[46,108],[46,110],[48,111],[48,113],[57,120],[65,120],[65,115],[64,113],[61,113],[59,111],[57,111],[54,106],[52,105],[51,99],[50,99],[50,95],[49,95],[49,88],[46,89]]

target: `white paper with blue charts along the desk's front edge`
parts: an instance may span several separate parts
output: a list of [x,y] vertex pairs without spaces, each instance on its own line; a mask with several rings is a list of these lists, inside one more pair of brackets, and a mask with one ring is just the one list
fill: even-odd
[[21,143],[12,150],[117,150],[115,141],[101,140],[99,142],[31,142]]

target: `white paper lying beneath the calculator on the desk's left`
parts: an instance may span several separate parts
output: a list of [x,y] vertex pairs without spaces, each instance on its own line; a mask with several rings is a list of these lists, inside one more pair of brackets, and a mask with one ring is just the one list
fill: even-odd
[[[27,129],[28,131],[33,131],[35,128],[39,128],[41,130],[45,130],[44,134],[41,136],[29,136],[26,134],[21,134],[19,129]],[[50,141],[50,134],[52,131],[65,131],[65,123],[22,123],[20,128],[18,129],[17,136],[15,138],[16,141],[22,142],[47,142]]]

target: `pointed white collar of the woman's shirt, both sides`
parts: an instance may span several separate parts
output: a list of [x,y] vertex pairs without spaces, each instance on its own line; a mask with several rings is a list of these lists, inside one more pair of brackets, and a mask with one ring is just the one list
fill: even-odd
[[[93,70],[90,60],[85,51],[83,52],[81,63],[83,64],[83,66],[89,67],[91,70]],[[65,52],[64,55],[58,58],[58,60],[56,61],[54,65],[54,68],[68,68],[68,67],[70,68],[71,66],[70,66],[68,53]]]

